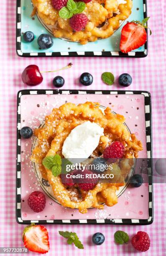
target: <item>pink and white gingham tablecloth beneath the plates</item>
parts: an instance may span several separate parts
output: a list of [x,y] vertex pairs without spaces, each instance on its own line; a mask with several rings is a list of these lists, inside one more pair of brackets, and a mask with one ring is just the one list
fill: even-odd
[[[66,80],[64,89],[84,89],[78,83],[83,72],[90,72],[94,82],[88,89],[121,90],[115,82],[108,86],[101,82],[101,74],[112,72],[116,79],[123,72],[133,77],[128,90],[147,90],[152,96],[153,157],[166,158],[166,1],[147,0],[149,27],[149,53],[144,59],[115,58],[20,58],[15,50],[16,0],[0,0],[0,246],[23,246],[23,225],[15,221],[15,160],[16,160],[16,95],[18,90],[29,89],[21,81],[20,74],[29,64],[37,64],[41,70],[51,70],[73,63],[71,69],[59,72]],[[53,89],[54,74],[45,74],[38,89]],[[166,185],[154,184],[154,222],[149,226],[116,225],[47,225],[50,251],[47,255],[166,255]],[[84,250],[67,245],[58,230],[71,230],[84,243]],[[117,246],[116,230],[124,230],[132,236],[137,231],[148,232],[151,248],[146,253],[136,253],[130,243]],[[94,246],[91,237],[95,232],[105,235],[102,246]],[[33,253],[30,253],[31,255]],[[13,254],[14,255],[14,254]]]

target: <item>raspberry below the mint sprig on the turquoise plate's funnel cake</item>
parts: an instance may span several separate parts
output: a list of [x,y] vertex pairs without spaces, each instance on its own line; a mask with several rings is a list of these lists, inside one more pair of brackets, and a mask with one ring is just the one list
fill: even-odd
[[87,25],[88,18],[84,13],[78,13],[70,19],[70,26],[74,31],[81,31]]

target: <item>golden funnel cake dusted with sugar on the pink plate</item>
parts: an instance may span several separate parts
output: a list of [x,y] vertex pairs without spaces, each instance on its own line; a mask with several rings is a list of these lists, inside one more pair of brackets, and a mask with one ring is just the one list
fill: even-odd
[[[97,148],[92,152],[91,158],[101,156],[107,146],[114,141],[120,141],[125,146],[123,159],[117,160],[113,164],[113,183],[98,182],[94,189],[89,191],[81,190],[81,197],[78,192],[78,185],[67,187],[61,181],[61,176],[54,177],[49,169],[45,169],[42,160],[46,156],[59,154],[61,158],[62,146],[71,131],[86,121],[97,123],[104,128],[104,135],[100,137]],[[127,177],[133,166],[133,158],[138,157],[142,143],[137,140],[134,134],[130,134],[124,125],[123,115],[113,114],[110,108],[106,108],[104,113],[100,110],[99,103],[86,102],[75,105],[66,103],[59,108],[54,108],[52,113],[46,116],[45,126],[35,130],[38,138],[38,145],[33,149],[31,160],[38,164],[44,179],[49,181],[54,197],[64,207],[78,208],[79,212],[86,213],[90,207],[103,209],[117,203],[116,191],[125,184]],[[91,161],[92,159],[89,159]],[[106,172],[110,172],[107,170]],[[74,196],[73,196],[74,195]]]

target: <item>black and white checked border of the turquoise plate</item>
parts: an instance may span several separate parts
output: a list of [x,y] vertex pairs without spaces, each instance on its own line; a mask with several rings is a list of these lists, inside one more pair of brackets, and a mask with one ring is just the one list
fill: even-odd
[[[146,0],[143,1],[143,16],[147,17],[147,5]],[[59,52],[33,52],[33,53],[23,53],[21,51],[21,0],[17,0],[17,16],[16,16],[16,51],[18,56],[21,57],[58,57],[58,56],[102,56],[102,57],[133,57],[133,58],[142,58],[146,57],[148,54],[148,43],[145,44],[145,51],[137,52],[128,52],[124,54],[121,51],[59,51]]]

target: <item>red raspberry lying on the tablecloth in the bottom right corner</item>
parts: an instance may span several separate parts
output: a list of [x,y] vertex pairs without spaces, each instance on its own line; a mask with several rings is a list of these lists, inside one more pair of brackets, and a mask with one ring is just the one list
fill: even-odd
[[131,244],[138,251],[148,251],[150,247],[150,238],[144,231],[138,231],[131,239]]

